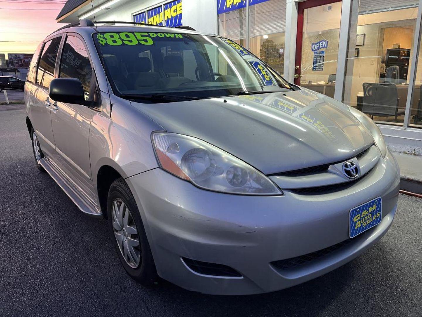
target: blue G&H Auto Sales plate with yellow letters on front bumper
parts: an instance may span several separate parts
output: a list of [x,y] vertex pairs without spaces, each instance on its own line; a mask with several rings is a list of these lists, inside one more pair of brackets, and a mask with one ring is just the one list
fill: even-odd
[[360,233],[381,222],[381,197],[357,206],[349,213],[349,236],[356,237]]

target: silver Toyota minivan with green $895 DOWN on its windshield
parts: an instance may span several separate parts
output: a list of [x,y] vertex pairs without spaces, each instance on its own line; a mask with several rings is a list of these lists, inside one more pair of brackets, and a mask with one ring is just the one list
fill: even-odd
[[38,169],[108,219],[142,284],[280,290],[392,224],[400,173],[373,121],[227,38],[81,20],[38,46],[24,96]]

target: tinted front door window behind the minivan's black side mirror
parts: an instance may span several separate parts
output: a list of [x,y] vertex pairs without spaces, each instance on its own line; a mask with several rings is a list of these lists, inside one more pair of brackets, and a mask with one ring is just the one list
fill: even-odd
[[87,49],[84,42],[76,36],[68,36],[63,47],[62,62],[59,77],[77,78],[84,87],[85,99],[89,98],[92,67],[89,63]]

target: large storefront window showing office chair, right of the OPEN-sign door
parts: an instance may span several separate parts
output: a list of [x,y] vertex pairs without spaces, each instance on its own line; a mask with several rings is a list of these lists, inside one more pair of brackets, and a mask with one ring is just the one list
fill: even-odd
[[[416,0],[352,1],[343,101],[376,122],[403,124],[417,4]],[[419,85],[420,81],[421,74]],[[418,100],[414,98],[412,115]]]

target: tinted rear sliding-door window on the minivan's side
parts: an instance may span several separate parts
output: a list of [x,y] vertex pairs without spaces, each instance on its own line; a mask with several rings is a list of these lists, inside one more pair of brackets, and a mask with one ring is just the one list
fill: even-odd
[[37,84],[49,87],[54,78],[54,65],[57,60],[57,51],[59,50],[61,37],[53,38],[46,42],[41,54],[40,63],[37,70]]

